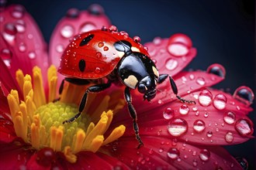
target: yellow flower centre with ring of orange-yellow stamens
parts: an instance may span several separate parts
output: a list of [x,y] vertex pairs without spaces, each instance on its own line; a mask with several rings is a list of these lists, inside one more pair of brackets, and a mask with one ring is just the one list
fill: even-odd
[[[40,68],[34,67],[33,69],[33,86],[31,76],[24,76],[21,70],[16,72],[16,80],[22,89],[24,101],[19,100],[17,90],[12,90],[7,98],[18,137],[30,143],[37,150],[50,147],[54,151],[63,151],[67,161],[76,162],[75,154],[79,151],[96,152],[102,145],[115,141],[123,135],[125,127],[120,125],[114,128],[107,138],[104,138],[112,121],[112,110],[103,111],[100,117],[99,113],[91,114],[91,116],[83,114],[72,123],[62,124],[63,121],[78,113],[78,95],[76,94],[81,93],[81,89],[72,85],[64,86],[61,100],[52,102],[57,98],[55,95],[57,91],[56,68],[50,66],[47,75],[48,102],[43,89]],[[109,97],[106,98],[109,101]],[[107,109],[109,103],[111,102],[102,100],[99,107]],[[122,101],[119,103],[121,104],[116,104],[116,108],[122,106]]]

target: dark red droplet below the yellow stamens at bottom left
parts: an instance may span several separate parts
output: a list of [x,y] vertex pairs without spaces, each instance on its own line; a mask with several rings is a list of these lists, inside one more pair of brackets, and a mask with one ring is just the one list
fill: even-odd
[[39,165],[50,166],[55,160],[55,152],[52,148],[42,148],[37,152],[36,162]]

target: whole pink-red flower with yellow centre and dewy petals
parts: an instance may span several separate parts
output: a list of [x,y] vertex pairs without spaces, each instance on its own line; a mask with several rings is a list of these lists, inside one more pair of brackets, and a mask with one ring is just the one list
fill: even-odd
[[[183,34],[156,38],[145,46],[159,72],[174,77],[178,94],[197,104],[177,100],[167,81],[159,85],[151,104],[134,90],[133,105],[144,147],[136,148],[123,89],[114,85],[90,98],[83,117],[72,124],[61,124],[77,113],[81,98],[77,96],[86,87],[67,83],[61,100],[52,103],[62,76],[49,63],[58,66],[64,46],[75,32],[110,25],[99,5],[88,11],[71,9],[59,22],[50,42],[48,62],[46,45],[24,8],[13,5],[2,9],[0,167],[240,169],[220,145],[239,144],[251,138],[253,124],[247,114],[252,110],[249,106],[254,94],[248,87],[237,88],[234,96],[210,88],[225,76],[220,64],[206,71],[182,71],[196,55],[191,39]],[[86,24],[85,19],[89,21]],[[105,128],[91,123],[102,121]],[[92,136],[89,131],[96,134],[85,142],[85,135]],[[110,140],[109,136],[115,137]]]

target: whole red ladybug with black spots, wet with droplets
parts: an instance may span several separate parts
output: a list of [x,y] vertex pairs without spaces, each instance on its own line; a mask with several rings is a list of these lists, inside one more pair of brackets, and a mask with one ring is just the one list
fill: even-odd
[[[171,76],[158,73],[157,66],[150,59],[144,46],[140,44],[138,37],[132,39],[126,32],[118,32],[114,26],[75,36],[61,56],[58,72],[63,74],[64,80],[69,83],[83,85],[97,82],[85,90],[78,114],[63,123],[72,122],[81,115],[86,107],[88,93],[106,90],[112,83],[125,86],[124,97],[130,117],[133,118],[133,129],[139,142],[138,148],[143,145],[143,141],[140,139],[137,113],[132,104],[130,90],[137,89],[144,94],[144,100],[150,101],[156,96],[157,84],[169,78],[171,89],[178,100],[195,104],[193,100],[185,100],[178,96],[178,88]],[[60,94],[64,80],[61,83]]]

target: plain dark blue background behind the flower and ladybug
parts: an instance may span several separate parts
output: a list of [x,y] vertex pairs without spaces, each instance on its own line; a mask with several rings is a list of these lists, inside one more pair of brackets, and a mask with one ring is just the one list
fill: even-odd
[[[247,85],[255,93],[254,0],[252,1],[9,1],[19,3],[33,15],[49,42],[54,26],[69,8],[88,8],[98,3],[119,30],[149,42],[156,36],[169,37],[183,32],[192,38],[197,57],[186,70],[206,70],[212,63],[222,64],[226,79],[216,88]],[[255,103],[255,101],[254,101]],[[255,107],[254,107],[255,108]],[[255,111],[250,114],[255,122]],[[227,147],[232,155],[247,158],[254,169],[255,140]]]

